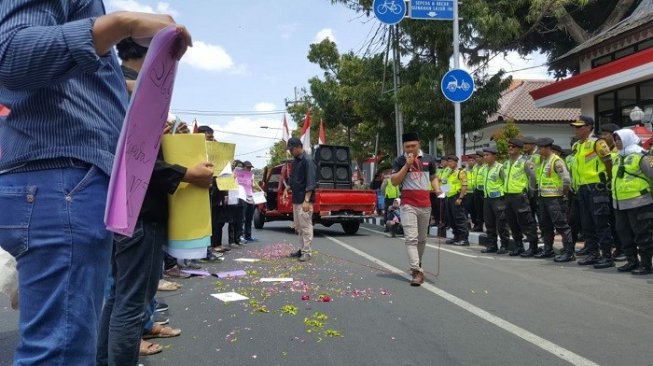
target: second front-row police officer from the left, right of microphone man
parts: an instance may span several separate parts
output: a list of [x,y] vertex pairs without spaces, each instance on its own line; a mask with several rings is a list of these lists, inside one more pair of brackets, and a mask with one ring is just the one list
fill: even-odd
[[[510,235],[506,223],[506,200],[503,194],[505,175],[503,165],[497,162],[497,149],[489,147],[483,149],[487,171],[483,190],[485,201],[483,202],[483,219],[485,230],[490,244],[482,253],[506,254]],[[497,233],[501,239],[501,248],[497,246]]]

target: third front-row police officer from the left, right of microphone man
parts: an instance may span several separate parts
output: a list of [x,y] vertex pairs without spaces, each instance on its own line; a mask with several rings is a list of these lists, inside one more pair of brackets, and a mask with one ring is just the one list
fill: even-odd
[[[537,227],[528,199],[529,194],[536,191],[536,178],[532,165],[527,164],[526,157],[522,155],[523,146],[519,139],[508,141],[509,159],[504,163],[506,221],[515,241],[510,255],[532,257],[537,254]],[[528,251],[524,251],[524,234],[529,243]]]

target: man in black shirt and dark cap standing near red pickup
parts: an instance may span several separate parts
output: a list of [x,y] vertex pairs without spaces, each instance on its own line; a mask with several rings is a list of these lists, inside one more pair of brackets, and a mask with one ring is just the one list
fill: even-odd
[[302,248],[291,254],[291,257],[299,257],[300,262],[306,262],[311,259],[313,241],[313,203],[317,180],[315,163],[313,158],[304,152],[304,146],[298,138],[290,138],[287,148],[295,159],[290,172],[290,186],[286,186],[283,199],[288,200],[288,191],[292,190],[295,231],[302,243]]

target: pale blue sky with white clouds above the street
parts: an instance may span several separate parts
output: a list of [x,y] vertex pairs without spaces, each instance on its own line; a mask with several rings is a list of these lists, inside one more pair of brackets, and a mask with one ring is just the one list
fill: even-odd
[[[378,22],[328,0],[104,0],[107,11],[132,10],[172,14],[188,27],[195,47],[182,60],[172,101],[173,113],[184,121],[209,124],[219,141],[236,143],[236,157],[255,167],[266,162],[269,147],[281,139],[284,98],[321,71],[306,55],[309,45],[329,37],[341,52],[364,52]],[[444,23],[443,23],[444,24]],[[495,58],[490,71],[516,70],[545,62],[537,55]],[[514,77],[545,78],[545,68]],[[244,112],[237,116],[192,113]],[[186,112],[183,112],[186,111]],[[217,114],[217,113],[213,113]],[[295,123],[289,120],[290,128]],[[228,133],[227,133],[228,132]],[[255,135],[260,137],[249,137]],[[328,136],[327,136],[328,139]]]

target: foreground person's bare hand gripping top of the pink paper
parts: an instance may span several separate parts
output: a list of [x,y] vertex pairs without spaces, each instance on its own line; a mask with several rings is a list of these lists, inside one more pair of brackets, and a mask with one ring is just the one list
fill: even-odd
[[129,25],[131,38],[141,46],[149,47],[154,35],[161,29],[171,25],[177,28],[177,34],[179,35],[179,44],[175,51],[177,60],[181,59],[188,47],[193,46],[193,40],[186,27],[177,24],[170,15],[128,12],[125,16],[128,18],[127,24]]

